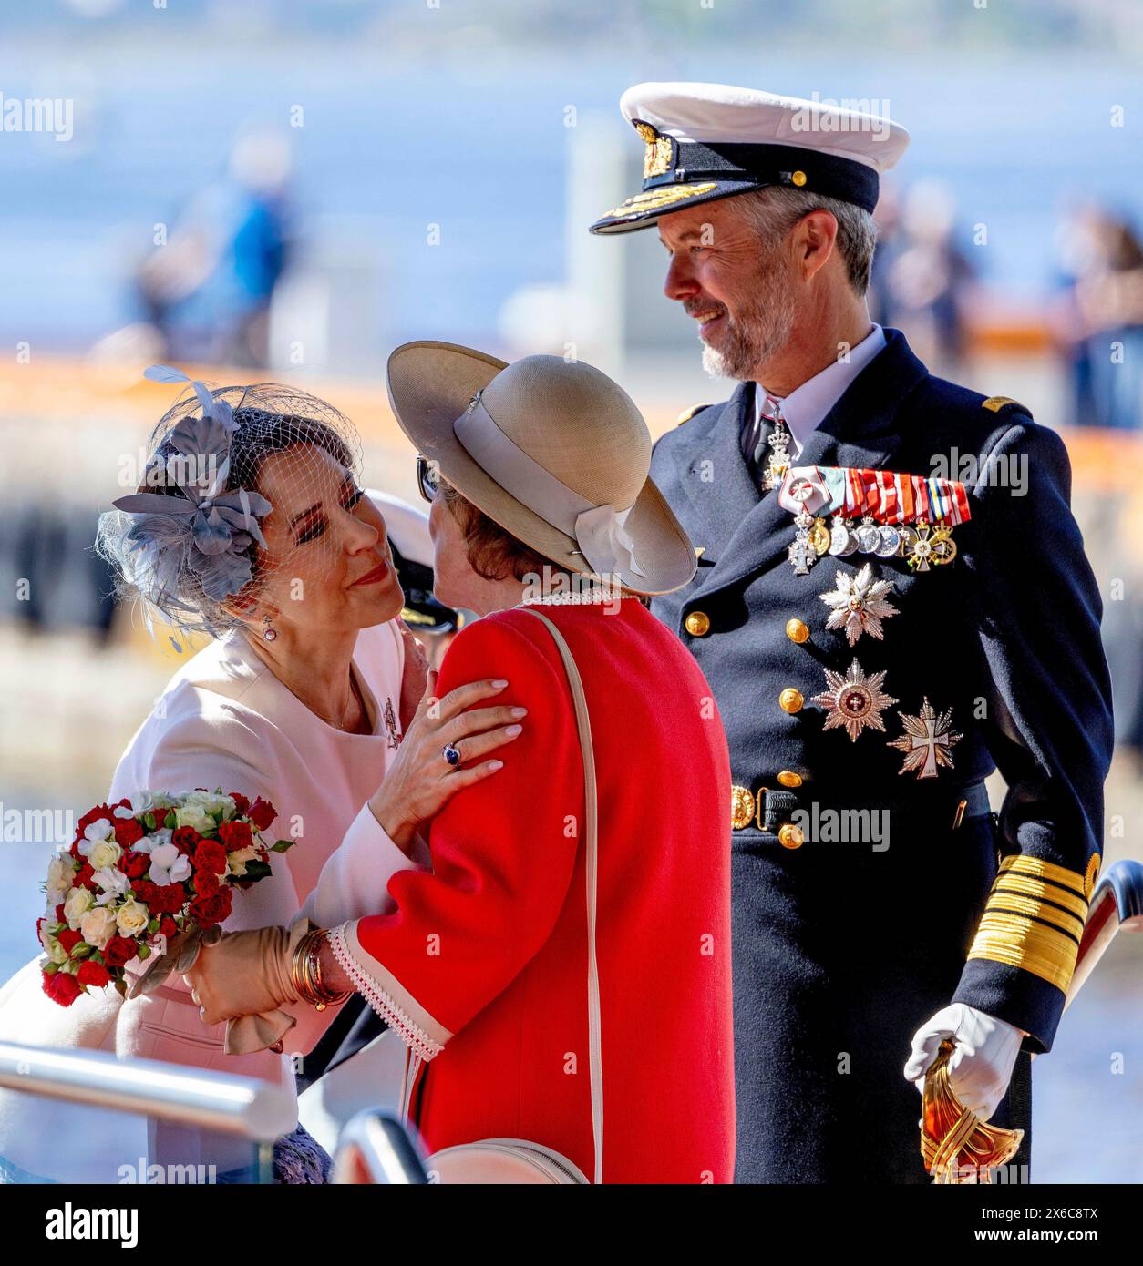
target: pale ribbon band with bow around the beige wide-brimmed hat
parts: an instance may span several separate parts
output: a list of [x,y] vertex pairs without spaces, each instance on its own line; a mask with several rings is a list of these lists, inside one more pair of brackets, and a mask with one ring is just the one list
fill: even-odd
[[645,575],[635,561],[635,542],[625,528],[631,506],[616,510],[611,504],[594,505],[568,487],[501,430],[480,396],[478,391],[452,423],[460,446],[480,470],[545,523],[574,537],[598,576],[621,571]]

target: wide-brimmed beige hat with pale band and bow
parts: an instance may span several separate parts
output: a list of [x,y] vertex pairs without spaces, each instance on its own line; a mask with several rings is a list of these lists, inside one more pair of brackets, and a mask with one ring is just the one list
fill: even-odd
[[388,389],[402,430],[440,475],[559,567],[636,594],[669,594],[694,547],[649,476],[635,403],[583,361],[508,365],[455,343],[404,343]]

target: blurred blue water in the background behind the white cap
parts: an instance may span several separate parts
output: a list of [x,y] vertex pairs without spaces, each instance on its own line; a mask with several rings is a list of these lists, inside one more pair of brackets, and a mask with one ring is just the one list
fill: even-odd
[[[627,135],[618,95],[648,77],[887,100],[914,137],[901,176],[949,184],[966,242],[986,225],[988,244],[969,246],[971,258],[1006,298],[1050,284],[1070,201],[1143,209],[1143,80],[1114,52],[945,58],[923,39],[910,57],[849,57],[829,39],[821,53],[783,52],[734,42],[725,13],[712,20],[727,30],[718,56],[636,39],[537,58],[482,30],[430,61],[379,41],[161,38],[171,28],[146,22],[86,56],[75,38],[9,37],[0,90],[72,97],[75,139],[0,133],[0,337],[82,347],[138,316],[124,275],[152,227],[223,173],[233,137],[255,122],[295,143],[303,238],[317,215],[369,218],[386,260],[386,338],[487,337],[518,286],[563,280],[566,108],[602,111]],[[304,127],[288,127],[294,105]],[[1127,127],[1111,125],[1113,105]],[[601,191],[601,210],[615,192]],[[426,244],[430,224],[440,246]]]

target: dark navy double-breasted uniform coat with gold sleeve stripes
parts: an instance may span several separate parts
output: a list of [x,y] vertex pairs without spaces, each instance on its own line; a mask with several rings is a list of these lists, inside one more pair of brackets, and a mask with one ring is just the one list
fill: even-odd
[[[740,448],[753,384],[664,436],[651,461],[701,549],[696,579],[653,610],[711,684],[739,820],[764,805],[729,830],[739,1181],[926,1181],[920,1096],[902,1076],[912,1033],[962,1001],[1047,1051],[1101,855],[1110,686],[1063,442],[1014,401],[931,376],[898,330],[886,338],[795,465],[963,479],[972,518],[953,530],[950,563],[915,572],[901,557],[825,555],[796,575],[793,518]],[[850,647],[825,628],[819,595],[865,562],[893,582],[898,614],[883,641],[863,633]],[[792,620],[808,637],[795,641]],[[826,668],[854,660],[884,672],[897,703],[884,732],[850,741],[811,700]],[[779,704],[789,690],[797,710]],[[952,767],[919,779],[890,741],[924,700],[952,709],[962,737]],[[993,767],[1007,784],[999,820],[961,810],[954,825]],[[839,842],[845,810],[868,815],[850,813]],[[783,847],[783,820],[812,820],[817,837],[811,827]],[[1009,1101],[1026,1063],[993,1123],[1028,1125],[1023,1100]]]

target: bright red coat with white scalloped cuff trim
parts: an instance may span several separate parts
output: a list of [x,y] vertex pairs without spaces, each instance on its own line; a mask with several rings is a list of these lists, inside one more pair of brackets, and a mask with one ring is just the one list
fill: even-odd
[[[603,1177],[730,1182],[730,767],[693,657],[639,601],[542,605],[584,682],[599,804]],[[504,767],[433,820],[432,874],[351,933],[369,996],[423,1066],[430,1148],[513,1137],[593,1171],[583,765],[549,630],[522,610],[454,641],[438,694],[507,677]]]

